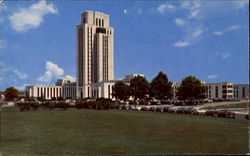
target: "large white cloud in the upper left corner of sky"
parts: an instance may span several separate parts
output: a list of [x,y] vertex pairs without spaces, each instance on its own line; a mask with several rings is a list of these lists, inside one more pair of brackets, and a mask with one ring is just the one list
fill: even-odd
[[53,4],[46,4],[46,1],[40,1],[29,8],[20,8],[9,17],[9,20],[14,30],[25,32],[40,26],[46,14],[55,13],[57,13],[57,9]]

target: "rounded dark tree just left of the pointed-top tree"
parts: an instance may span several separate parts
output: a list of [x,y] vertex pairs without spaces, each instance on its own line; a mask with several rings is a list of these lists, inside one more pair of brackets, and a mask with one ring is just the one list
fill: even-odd
[[136,76],[130,80],[131,95],[135,99],[145,99],[149,91],[149,83],[143,76]]

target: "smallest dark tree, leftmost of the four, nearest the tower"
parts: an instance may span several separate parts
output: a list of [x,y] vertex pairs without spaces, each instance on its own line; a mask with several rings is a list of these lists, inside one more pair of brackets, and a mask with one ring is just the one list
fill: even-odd
[[130,96],[130,88],[123,81],[117,81],[113,86],[113,94],[119,100],[127,100]]

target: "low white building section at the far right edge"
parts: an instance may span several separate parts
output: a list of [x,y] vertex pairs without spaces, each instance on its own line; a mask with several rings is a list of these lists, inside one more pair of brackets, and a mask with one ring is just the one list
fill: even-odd
[[249,99],[249,84],[234,84],[235,99]]

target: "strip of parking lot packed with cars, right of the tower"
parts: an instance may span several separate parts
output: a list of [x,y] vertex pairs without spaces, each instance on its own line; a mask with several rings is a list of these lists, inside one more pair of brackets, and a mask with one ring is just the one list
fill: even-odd
[[230,105],[236,103],[247,102],[247,100],[238,102],[216,102],[206,103],[203,105],[193,106],[175,106],[171,104],[157,104],[157,105],[131,105],[131,104],[116,104],[115,109],[126,109],[126,110],[138,110],[138,111],[153,111],[153,112],[166,112],[166,113],[178,113],[178,114],[190,114],[190,115],[201,115],[201,116],[213,116],[213,117],[225,117],[225,118],[236,118],[249,120],[248,108],[205,108],[215,107],[219,105]]

